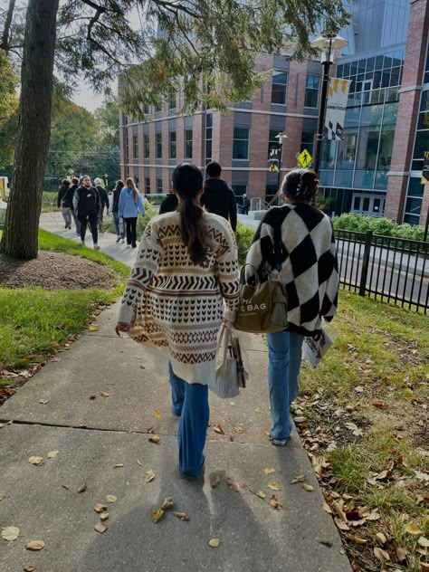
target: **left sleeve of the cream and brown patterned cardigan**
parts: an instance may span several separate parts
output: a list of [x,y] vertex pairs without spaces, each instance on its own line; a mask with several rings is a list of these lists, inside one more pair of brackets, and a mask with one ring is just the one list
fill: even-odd
[[138,247],[137,259],[120,304],[118,321],[130,323],[138,300],[157,272],[162,253],[163,248],[158,240],[157,230],[150,221]]

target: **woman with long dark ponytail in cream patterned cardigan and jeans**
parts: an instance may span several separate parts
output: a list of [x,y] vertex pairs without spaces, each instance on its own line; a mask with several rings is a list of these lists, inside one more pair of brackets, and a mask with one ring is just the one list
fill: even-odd
[[227,221],[200,205],[198,167],[176,167],[173,186],[178,209],[148,223],[116,332],[131,330],[137,341],[167,348],[172,409],[180,415],[178,468],[195,478],[205,462],[207,383],[215,377],[217,334],[223,316],[234,321],[238,307],[237,246]]

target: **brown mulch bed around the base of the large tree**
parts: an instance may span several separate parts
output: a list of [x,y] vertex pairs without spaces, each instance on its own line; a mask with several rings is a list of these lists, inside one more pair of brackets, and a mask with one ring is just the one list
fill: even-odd
[[107,266],[71,254],[40,251],[38,258],[16,260],[0,254],[0,286],[40,286],[44,290],[110,290],[118,281]]

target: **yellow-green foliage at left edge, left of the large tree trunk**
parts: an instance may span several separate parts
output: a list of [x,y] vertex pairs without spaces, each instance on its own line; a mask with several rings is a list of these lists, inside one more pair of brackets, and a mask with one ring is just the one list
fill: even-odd
[[0,169],[12,163],[14,157],[14,139],[18,119],[18,98],[15,88],[18,78],[14,68],[0,49]]

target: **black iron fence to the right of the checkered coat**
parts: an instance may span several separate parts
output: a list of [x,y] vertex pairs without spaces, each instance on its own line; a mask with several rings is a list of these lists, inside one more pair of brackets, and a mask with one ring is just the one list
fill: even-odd
[[360,296],[429,310],[429,243],[336,230],[340,283]]

